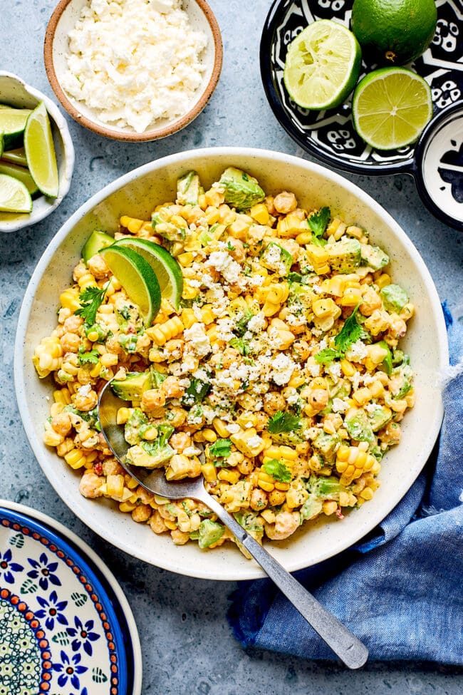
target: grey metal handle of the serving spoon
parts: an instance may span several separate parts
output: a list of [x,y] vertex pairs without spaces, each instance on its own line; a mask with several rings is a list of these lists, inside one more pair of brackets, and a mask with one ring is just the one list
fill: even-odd
[[202,501],[229,527],[241,545],[244,545],[254,560],[261,565],[277,587],[285,594],[286,598],[306,619],[309,625],[320,635],[328,647],[338,655],[341,661],[350,669],[360,669],[368,659],[368,649],[360,640],[350,632],[347,627],[339,622],[321,603],[317,601],[274,557],[259,545],[259,543],[247,533],[243,527],[204,490]]

